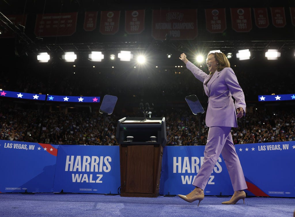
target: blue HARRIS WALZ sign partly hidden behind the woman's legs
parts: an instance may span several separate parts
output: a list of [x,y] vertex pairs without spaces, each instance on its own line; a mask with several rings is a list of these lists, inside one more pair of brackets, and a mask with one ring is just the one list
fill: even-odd
[[[166,146],[163,151],[160,179],[161,195],[188,194],[194,189],[193,180],[203,164],[205,146]],[[230,176],[220,156],[208,184],[205,195],[231,195]]]

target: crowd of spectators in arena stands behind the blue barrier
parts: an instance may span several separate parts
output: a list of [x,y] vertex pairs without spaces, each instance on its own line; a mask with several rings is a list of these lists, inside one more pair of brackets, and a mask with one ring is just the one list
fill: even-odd
[[[154,112],[165,117],[166,145],[206,145],[208,127],[205,114],[193,115],[189,107]],[[131,117],[139,117],[134,113]],[[118,145],[117,122],[122,116],[93,112],[42,112],[15,109],[2,102],[0,113],[1,140],[50,144]],[[284,109],[254,110],[238,120],[232,128],[234,144],[266,143],[295,140],[295,115]],[[201,134],[200,134],[201,132]],[[105,140],[104,140],[105,139]]]

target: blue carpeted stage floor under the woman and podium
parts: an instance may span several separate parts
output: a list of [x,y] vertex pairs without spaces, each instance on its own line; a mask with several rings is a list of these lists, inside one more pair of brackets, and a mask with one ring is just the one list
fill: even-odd
[[206,196],[188,203],[178,197],[130,198],[101,194],[0,194],[0,216],[293,216],[295,198],[245,198],[235,205],[230,197]]

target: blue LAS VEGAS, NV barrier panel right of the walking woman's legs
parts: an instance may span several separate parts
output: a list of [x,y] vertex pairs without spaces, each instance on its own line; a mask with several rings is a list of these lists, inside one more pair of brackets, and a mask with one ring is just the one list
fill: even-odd
[[295,141],[236,145],[248,195],[295,197]]

